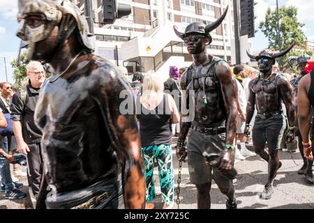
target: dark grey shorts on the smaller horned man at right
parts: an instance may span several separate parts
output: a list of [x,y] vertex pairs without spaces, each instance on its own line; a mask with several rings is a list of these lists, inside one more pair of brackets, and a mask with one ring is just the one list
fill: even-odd
[[256,116],[252,138],[254,146],[266,146],[269,150],[278,150],[281,144],[281,138],[285,131],[285,118],[283,114],[277,114],[269,118],[260,118]]

